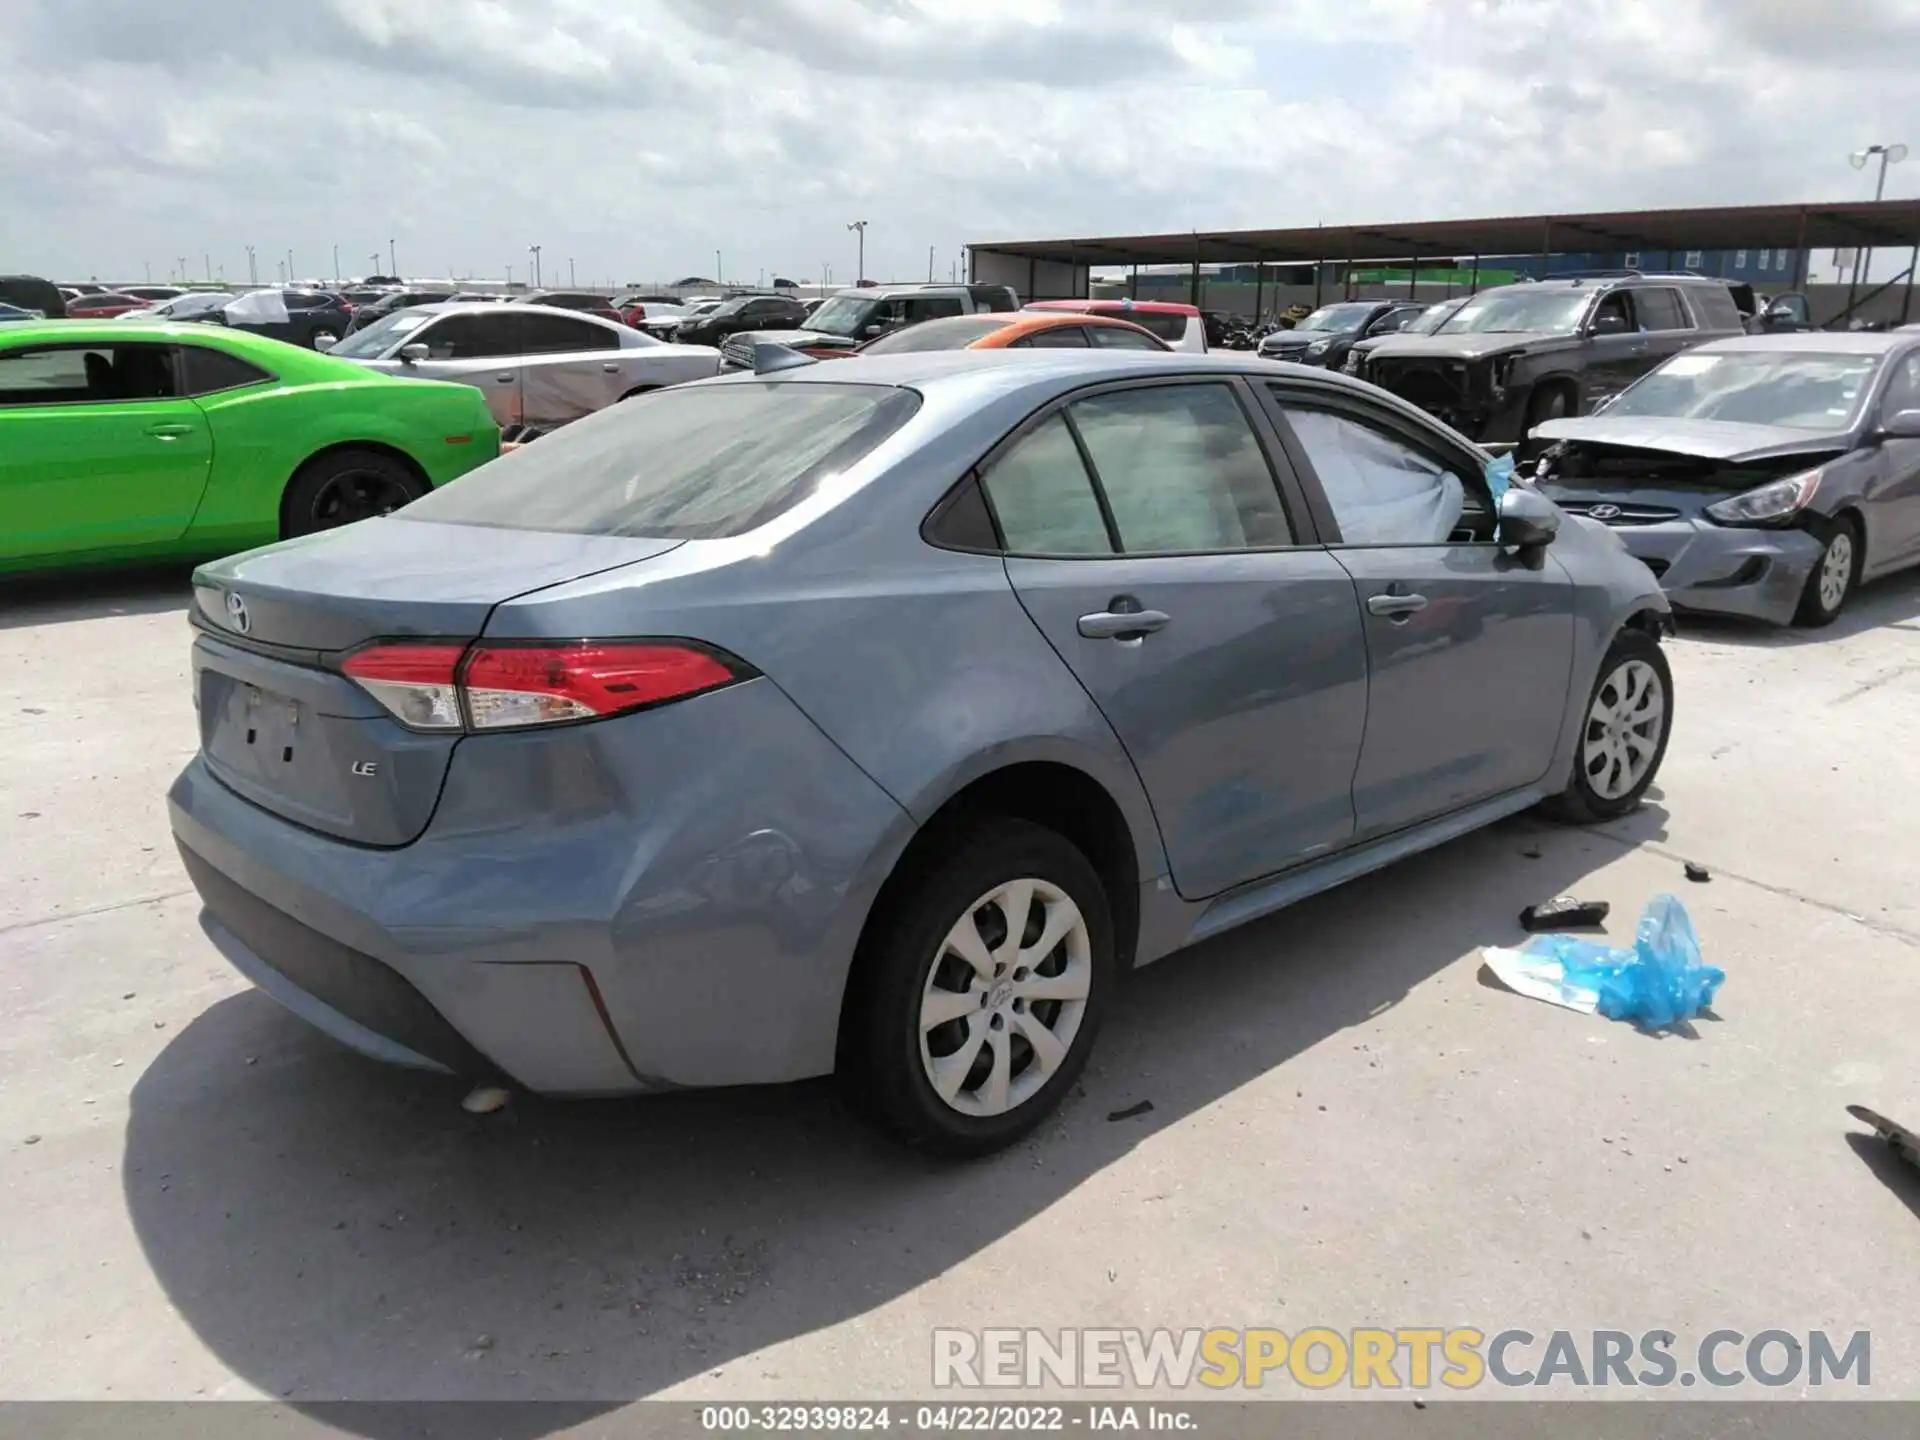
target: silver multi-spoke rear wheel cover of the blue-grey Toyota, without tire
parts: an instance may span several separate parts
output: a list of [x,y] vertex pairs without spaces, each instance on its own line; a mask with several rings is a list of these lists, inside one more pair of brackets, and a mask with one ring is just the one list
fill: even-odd
[[920,998],[920,1064],[964,1116],[1004,1116],[1060,1069],[1087,1014],[1092,939],[1073,899],[1010,879],[954,922]]

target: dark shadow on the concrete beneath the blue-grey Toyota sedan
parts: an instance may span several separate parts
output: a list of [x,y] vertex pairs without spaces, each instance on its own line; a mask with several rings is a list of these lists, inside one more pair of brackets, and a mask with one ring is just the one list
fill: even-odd
[[[1657,808],[1642,816],[1661,831]],[[472,1117],[459,1085],[365,1062],[244,993],[134,1085],[125,1198],[167,1300],[219,1361],[315,1413],[611,1409],[716,1373],[778,1386],[778,1357],[743,1357],[900,1300],[1475,947],[1521,943],[1521,906],[1640,833],[1511,820],[1137,972],[1064,1110],[968,1165],[893,1146],[826,1081],[522,1096]],[[1140,1100],[1152,1110],[1110,1121]],[[405,1428],[324,1413],[369,1436]],[[580,1423],[576,1405],[513,1417],[515,1436]]]

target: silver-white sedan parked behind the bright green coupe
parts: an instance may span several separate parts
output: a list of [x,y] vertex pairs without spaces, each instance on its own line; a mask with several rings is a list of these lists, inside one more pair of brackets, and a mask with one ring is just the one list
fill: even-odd
[[501,428],[540,430],[720,369],[710,346],[674,346],[628,324],[545,305],[415,305],[332,351],[388,374],[478,388]]

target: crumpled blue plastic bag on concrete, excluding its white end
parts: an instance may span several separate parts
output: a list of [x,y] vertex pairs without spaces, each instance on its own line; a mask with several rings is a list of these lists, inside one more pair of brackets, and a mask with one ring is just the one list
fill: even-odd
[[1521,956],[1526,962],[1557,960],[1565,989],[1592,991],[1596,1008],[1607,1020],[1628,1020],[1645,1029],[1692,1020],[1713,1004],[1726,981],[1724,970],[1701,962],[1693,922],[1672,895],[1653,897],[1640,912],[1632,950],[1572,935],[1540,935]]

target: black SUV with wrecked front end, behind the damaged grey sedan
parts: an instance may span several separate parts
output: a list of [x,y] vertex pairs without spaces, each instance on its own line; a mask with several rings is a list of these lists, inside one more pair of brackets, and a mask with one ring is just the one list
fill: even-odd
[[1632,275],[1482,290],[1438,330],[1394,336],[1357,367],[1461,434],[1521,442],[1586,415],[1665,359],[1745,334],[1726,280]]

